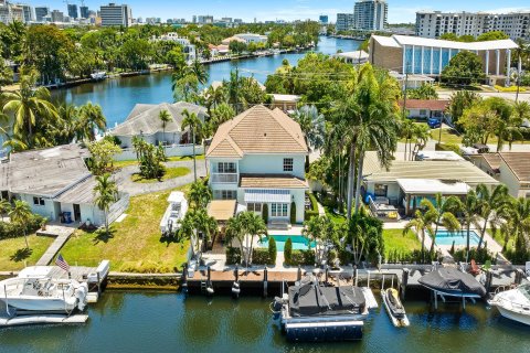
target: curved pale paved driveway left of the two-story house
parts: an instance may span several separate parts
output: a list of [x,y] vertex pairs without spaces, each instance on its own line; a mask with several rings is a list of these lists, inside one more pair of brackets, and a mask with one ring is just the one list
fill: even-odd
[[[155,182],[155,183],[135,183],[131,181],[131,176],[135,173],[139,172],[139,168],[137,165],[126,167],[123,168],[117,174],[118,180],[118,189],[119,191],[124,191],[129,193],[129,195],[141,195],[148,194],[151,192],[171,190],[176,188],[180,188],[193,182],[193,160],[191,161],[179,161],[179,162],[167,162],[165,163],[168,168],[177,168],[177,167],[186,167],[190,169],[190,173],[184,176],[179,176],[174,179],[170,179],[162,182]],[[197,161],[197,178],[206,176],[206,167],[204,164],[204,160]]]

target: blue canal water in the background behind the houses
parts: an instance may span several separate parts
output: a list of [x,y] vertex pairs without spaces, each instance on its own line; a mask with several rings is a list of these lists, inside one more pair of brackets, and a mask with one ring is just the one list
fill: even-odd
[[[322,36],[316,51],[325,54],[335,54],[339,50],[343,52],[354,51],[358,46],[359,42],[357,41]],[[274,73],[282,65],[284,58],[287,58],[292,65],[296,65],[304,55],[305,53],[282,54],[206,65],[209,82],[230,78],[231,71],[239,67],[241,75],[254,76],[257,81],[264,83],[267,75]],[[121,79],[106,79],[97,84],[85,84],[68,89],[55,90],[53,96],[60,101],[68,101],[75,105],[83,105],[88,100],[100,105],[109,127],[114,127],[116,122],[119,124],[125,120],[137,103],[158,104],[173,100],[171,74],[167,72]]]

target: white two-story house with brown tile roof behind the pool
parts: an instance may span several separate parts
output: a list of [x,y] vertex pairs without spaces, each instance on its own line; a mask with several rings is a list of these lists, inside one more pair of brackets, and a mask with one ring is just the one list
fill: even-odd
[[304,222],[307,143],[300,126],[279,109],[255,106],[221,125],[206,151],[214,200],[236,200],[269,222]]

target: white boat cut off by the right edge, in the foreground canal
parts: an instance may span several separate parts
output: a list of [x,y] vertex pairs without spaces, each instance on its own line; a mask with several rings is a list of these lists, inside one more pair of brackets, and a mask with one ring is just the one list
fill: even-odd
[[530,285],[499,292],[488,303],[502,317],[530,325]]

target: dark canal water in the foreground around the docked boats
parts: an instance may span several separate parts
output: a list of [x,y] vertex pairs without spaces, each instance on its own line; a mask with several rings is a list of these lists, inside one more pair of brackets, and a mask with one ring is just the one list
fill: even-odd
[[428,314],[426,303],[406,302],[407,329],[394,328],[379,309],[362,341],[315,344],[286,342],[268,303],[107,291],[84,325],[0,330],[0,352],[530,352],[530,328],[481,303]]

